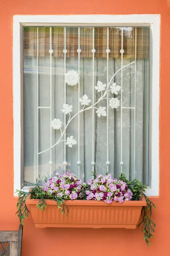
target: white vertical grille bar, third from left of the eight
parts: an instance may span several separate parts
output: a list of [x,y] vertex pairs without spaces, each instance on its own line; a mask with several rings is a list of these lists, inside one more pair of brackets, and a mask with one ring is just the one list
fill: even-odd
[[[66,27],[64,27],[64,103],[66,103]],[[64,114],[64,129],[66,128],[66,114]],[[66,132],[64,133],[66,140]],[[64,141],[64,172],[66,172],[66,141]]]

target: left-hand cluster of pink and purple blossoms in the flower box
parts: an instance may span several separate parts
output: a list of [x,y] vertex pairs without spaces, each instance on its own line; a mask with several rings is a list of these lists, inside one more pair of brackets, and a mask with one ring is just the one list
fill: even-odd
[[59,172],[55,174],[55,177],[49,179],[43,185],[43,190],[46,194],[62,197],[63,199],[81,199],[83,195],[81,193],[83,186],[81,179],[78,179],[76,175],[69,171],[64,174],[60,174]]

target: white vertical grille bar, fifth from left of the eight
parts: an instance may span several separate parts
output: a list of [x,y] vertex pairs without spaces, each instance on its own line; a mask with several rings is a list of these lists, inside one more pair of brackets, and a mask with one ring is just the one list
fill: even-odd
[[[95,28],[92,28],[93,31],[93,41],[92,41],[92,104],[94,104],[94,86],[95,86]],[[95,110],[94,108],[92,109],[92,172],[94,172],[95,169],[95,149],[94,149],[94,118],[95,118]]]

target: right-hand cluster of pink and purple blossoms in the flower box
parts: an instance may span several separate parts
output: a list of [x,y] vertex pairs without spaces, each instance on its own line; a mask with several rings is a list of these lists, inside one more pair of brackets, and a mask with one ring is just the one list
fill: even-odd
[[130,201],[133,193],[127,188],[127,183],[113,179],[111,174],[107,176],[97,175],[95,180],[88,181],[89,189],[86,189],[86,200],[98,200],[111,204],[112,201]]

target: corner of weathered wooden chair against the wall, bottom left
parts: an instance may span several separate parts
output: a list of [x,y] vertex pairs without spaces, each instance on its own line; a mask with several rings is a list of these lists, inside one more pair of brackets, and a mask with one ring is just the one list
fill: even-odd
[[[23,226],[18,231],[0,231],[0,256],[21,256]],[[8,244],[8,246],[6,246]]]

